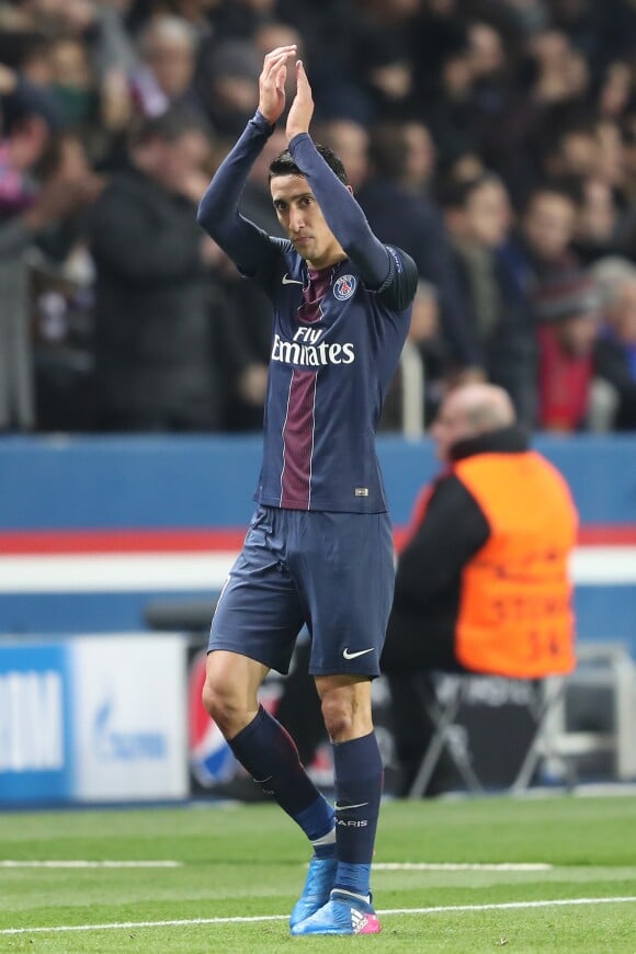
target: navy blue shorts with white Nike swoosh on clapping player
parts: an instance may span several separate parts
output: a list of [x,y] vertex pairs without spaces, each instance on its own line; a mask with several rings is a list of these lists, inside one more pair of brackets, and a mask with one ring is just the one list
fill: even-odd
[[286,673],[306,623],[313,675],[376,677],[394,577],[387,513],[261,506],[219,597],[208,650]]

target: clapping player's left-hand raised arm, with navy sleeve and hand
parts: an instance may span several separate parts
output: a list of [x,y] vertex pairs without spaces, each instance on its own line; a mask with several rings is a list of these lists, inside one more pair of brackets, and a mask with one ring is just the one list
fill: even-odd
[[215,172],[198,205],[197,222],[246,275],[255,275],[276,246],[245,218],[238,203],[250,169],[285,107],[285,63],[296,53],[283,46],[265,56],[259,78],[259,109]]

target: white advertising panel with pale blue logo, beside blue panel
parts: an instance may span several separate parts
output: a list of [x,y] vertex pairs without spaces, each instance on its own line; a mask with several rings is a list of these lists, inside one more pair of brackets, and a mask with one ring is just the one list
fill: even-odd
[[179,636],[73,640],[73,794],[80,802],[185,798],[185,647]]

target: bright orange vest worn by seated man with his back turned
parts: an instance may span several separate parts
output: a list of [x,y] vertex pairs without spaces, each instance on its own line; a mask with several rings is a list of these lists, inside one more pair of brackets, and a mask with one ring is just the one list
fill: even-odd
[[533,451],[478,454],[453,472],[490,526],[462,572],[458,660],[518,678],[569,672],[576,658],[568,559],[578,516],[564,478]]

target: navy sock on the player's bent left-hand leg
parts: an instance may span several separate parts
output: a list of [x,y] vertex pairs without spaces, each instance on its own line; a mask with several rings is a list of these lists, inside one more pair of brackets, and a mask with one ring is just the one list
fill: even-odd
[[333,809],[307,776],[294,740],[262,706],[249,726],[229,740],[229,747],[309,840],[333,828]]

